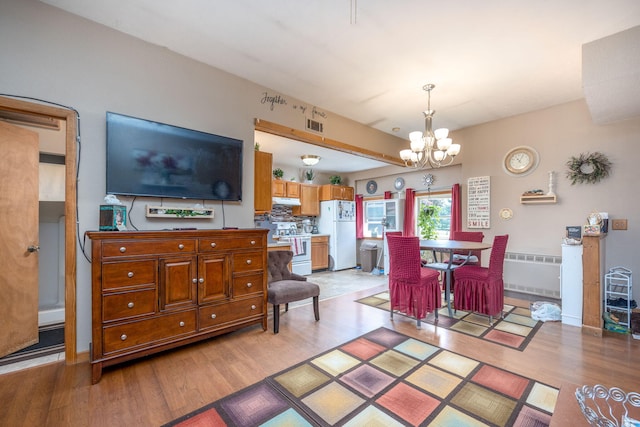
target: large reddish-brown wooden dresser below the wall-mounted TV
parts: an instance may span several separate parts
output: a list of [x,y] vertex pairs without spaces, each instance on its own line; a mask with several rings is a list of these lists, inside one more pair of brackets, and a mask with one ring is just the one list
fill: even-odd
[[89,232],[91,380],[106,366],[261,323],[267,230]]

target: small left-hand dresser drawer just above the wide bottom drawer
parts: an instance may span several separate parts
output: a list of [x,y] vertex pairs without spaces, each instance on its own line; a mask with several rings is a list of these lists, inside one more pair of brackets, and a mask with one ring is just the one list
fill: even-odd
[[157,301],[155,289],[106,295],[102,297],[102,321],[154,314],[157,311]]

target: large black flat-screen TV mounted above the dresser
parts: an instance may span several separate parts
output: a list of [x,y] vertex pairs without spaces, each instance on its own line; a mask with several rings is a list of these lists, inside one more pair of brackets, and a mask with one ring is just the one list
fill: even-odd
[[107,194],[242,200],[242,141],[107,112]]

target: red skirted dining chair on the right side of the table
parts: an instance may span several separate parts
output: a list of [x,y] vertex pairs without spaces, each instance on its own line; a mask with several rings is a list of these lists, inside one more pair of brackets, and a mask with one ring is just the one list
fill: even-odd
[[463,265],[453,272],[455,289],[453,300],[456,310],[474,311],[489,316],[489,324],[493,324],[493,316],[502,317],[504,307],[504,255],[509,235],[495,236],[489,267],[479,265]]

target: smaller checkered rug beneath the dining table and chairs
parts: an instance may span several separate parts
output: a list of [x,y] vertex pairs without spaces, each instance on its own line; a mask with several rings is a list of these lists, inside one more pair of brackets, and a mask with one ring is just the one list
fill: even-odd
[[[366,298],[357,300],[361,304],[389,311],[389,292],[379,292]],[[493,325],[489,325],[489,317],[467,311],[457,310],[453,317],[449,317],[449,311],[443,302],[438,311],[438,322],[435,316],[429,314],[422,322],[437,325],[441,328],[451,329],[467,335],[482,338],[496,344],[504,345],[523,351],[543,322],[533,320],[531,311],[525,307],[513,305],[504,306],[504,319],[494,319]],[[394,312],[400,315],[403,313]]]

